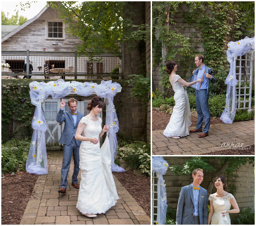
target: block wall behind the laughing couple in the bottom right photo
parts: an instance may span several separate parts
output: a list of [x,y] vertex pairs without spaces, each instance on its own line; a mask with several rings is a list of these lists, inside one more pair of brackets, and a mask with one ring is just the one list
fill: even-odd
[[[169,166],[179,164],[181,167],[189,160],[189,158],[190,157],[164,157]],[[215,169],[220,169],[221,165],[219,160],[210,159],[209,162]],[[235,183],[237,191],[233,194],[237,204],[240,209],[251,207],[252,210],[254,210],[254,167],[247,163],[245,166],[240,167],[237,171],[237,175],[239,176]],[[201,183],[203,188],[207,189],[211,176],[212,173],[204,172],[204,179]],[[224,174],[224,176],[226,175]],[[168,206],[177,209],[181,187],[189,185],[189,176],[182,175],[177,177],[170,169],[168,169],[163,178],[166,181],[167,204]],[[217,189],[214,187],[212,194],[216,191]],[[229,192],[229,190],[227,191]]]

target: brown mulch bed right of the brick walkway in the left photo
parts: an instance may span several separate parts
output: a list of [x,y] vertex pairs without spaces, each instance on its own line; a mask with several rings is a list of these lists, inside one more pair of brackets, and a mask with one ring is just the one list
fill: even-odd
[[150,179],[148,177],[138,177],[131,171],[113,174],[146,214],[150,216]]

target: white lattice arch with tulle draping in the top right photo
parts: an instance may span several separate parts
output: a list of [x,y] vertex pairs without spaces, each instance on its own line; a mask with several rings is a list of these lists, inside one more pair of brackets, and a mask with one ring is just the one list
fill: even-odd
[[[254,48],[254,37],[246,36],[245,39],[230,41],[227,44],[227,61],[230,63],[230,71],[225,80],[225,84],[227,84],[226,106],[220,117],[224,123],[232,124],[237,109],[251,111]],[[239,84],[238,87],[236,87],[237,84]],[[242,90],[243,94],[241,94]],[[246,100],[246,97],[249,97],[249,100]],[[248,107],[246,107],[246,103],[248,103]]]

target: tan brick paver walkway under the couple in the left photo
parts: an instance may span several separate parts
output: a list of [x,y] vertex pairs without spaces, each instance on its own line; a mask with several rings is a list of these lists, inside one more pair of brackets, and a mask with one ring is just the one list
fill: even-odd
[[[59,194],[62,152],[49,151],[47,158],[49,172],[39,175],[20,224],[150,224],[150,217],[115,177],[119,195],[117,204],[94,218],[81,215],[75,207],[79,190],[71,186],[73,159],[67,193]],[[78,183],[80,179],[79,171]]]

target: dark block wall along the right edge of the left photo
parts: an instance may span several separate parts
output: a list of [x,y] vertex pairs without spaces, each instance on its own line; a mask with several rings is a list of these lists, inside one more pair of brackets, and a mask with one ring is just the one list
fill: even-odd
[[[133,23],[140,25],[143,23],[150,24],[150,2],[129,2],[134,9],[134,16],[132,18]],[[131,45],[129,43],[129,45]],[[131,74],[141,74],[142,57],[146,55],[146,69],[150,72],[150,39],[145,43],[146,52],[139,51],[136,44],[133,47],[128,48],[128,43],[124,43],[124,65],[123,65],[123,77],[129,79]],[[150,85],[150,84],[149,84]],[[130,98],[130,89],[132,87],[123,86],[122,92],[119,94],[119,98],[122,99],[122,108],[120,109],[119,127],[120,133],[124,133],[128,136],[145,136],[147,140],[150,140],[149,128],[149,111],[148,108],[143,109],[140,99]],[[146,112],[146,115],[145,115]],[[121,121],[120,121],[121,120]],[[120,126],[120,124],[122,124]]]

